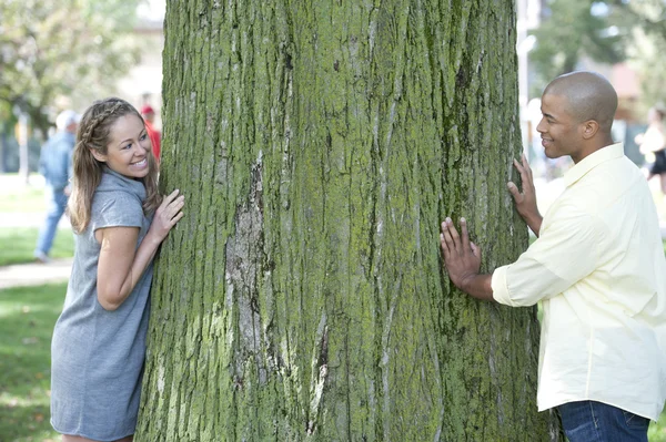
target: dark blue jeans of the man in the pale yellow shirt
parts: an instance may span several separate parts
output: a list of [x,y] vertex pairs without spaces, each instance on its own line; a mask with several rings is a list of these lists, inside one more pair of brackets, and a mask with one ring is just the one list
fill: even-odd
[[596,401],[557,407],[569,442],[647,442],[649,419]]

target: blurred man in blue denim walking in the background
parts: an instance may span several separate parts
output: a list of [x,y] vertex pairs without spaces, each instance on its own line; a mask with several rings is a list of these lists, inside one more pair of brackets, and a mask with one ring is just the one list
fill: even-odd
[[39,172],[44,176],[47,217],[39,230],[34,258],[48,263],[49,251],[58,229],[58,223],[67,207],[72,177],[72,154],[74,152],[77,126],[80,115],[74,111],[63,111],[56,119],[57,133],[43,145],[39,160]]

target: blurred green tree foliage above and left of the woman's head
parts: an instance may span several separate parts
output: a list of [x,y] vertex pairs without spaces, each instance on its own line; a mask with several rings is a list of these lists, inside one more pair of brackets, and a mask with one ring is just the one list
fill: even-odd
[[0,2],[0,102],[46,132],[58,100],[75,105],[109,94],[138,62],[127,34],[138,1]]

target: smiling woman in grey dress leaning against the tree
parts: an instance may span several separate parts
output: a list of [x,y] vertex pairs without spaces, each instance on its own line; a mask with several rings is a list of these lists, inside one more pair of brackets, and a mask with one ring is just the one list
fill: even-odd
[[183,216],[162,198],[141,115],[94,102],[73,155],[74,261],[51,343],[51,424],[70,441],[133,439],[145,353],[152,259]]

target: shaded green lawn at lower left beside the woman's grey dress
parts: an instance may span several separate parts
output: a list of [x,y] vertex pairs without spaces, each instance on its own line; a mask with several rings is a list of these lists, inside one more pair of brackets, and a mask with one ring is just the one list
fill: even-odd
[[49,423],[51,333],[67,285],[0,290],[0,440],[60,440]]

